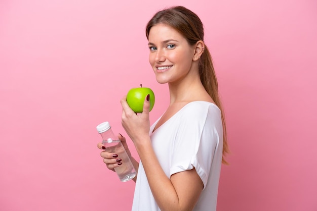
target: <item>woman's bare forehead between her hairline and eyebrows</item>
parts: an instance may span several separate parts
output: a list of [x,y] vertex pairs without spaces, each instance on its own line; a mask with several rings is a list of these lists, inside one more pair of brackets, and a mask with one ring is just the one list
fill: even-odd
[[174,39],[182,41],[185,39],[176,29],[167,24],[156,24],[149,31],[148,40],[150,42]]

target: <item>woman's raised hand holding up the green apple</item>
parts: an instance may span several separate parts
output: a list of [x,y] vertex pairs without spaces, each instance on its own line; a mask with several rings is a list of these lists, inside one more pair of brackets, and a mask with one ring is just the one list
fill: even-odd
[[143,112],[141,114],[136,114],[129,107],[126,96],[121,99],[122,105],[122,126],[136,145],[142,140],[147,140],[150,131],[150,121],[149,121],[149,102],[150,95],[147,95],[144,99]]

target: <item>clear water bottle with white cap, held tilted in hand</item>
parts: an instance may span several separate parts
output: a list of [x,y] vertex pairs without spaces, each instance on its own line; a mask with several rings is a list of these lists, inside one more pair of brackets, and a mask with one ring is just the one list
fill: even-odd
[[109,122],[99,124],[97,126],[97,131],[102,137],[102,144],[106,147],[105,151],[115,153],[118,155],[118,158],[122,159],[122,165],[114,168],[119,179],[123,182],[133,179],[136,175],[136,171],[129,159],[125,147],[118,137],[113,134]]

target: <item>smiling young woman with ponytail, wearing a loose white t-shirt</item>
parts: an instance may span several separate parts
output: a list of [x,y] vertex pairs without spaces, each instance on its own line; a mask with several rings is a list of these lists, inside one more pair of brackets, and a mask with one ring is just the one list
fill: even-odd
[[[122,98],[122,125],[140,156],[132,210],[216,210],[221,163],[228,151],[218,84],[199,17],[184,7],[157,12],[148,22],[149,63],[168,83],[170,105],[152,125],[149,95],[142,114]],[[105,147],[98,143],[98,148]],[[107,168],[117,154],[101,152]]]

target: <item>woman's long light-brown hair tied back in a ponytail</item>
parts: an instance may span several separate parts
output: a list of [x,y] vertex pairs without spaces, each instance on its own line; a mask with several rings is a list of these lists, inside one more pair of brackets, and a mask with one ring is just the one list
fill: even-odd
[[[147,39],[151,27],[160,23],[167,24],[176,29],[187,39],[188,43],[191,45],[194,45],[199,40],[204,41],[204,27],[202,21],[195,13],[185,7],[176,6],[157,12],[146,25]],[[199,73],[202,84],[204,85],[206,91],[221,111],[223,127],[222,163],[228,164],[224,158],[229,152],[224,112],[218,93],[218,82],[212,58],[206,45],[204,53],[200,59]]]

